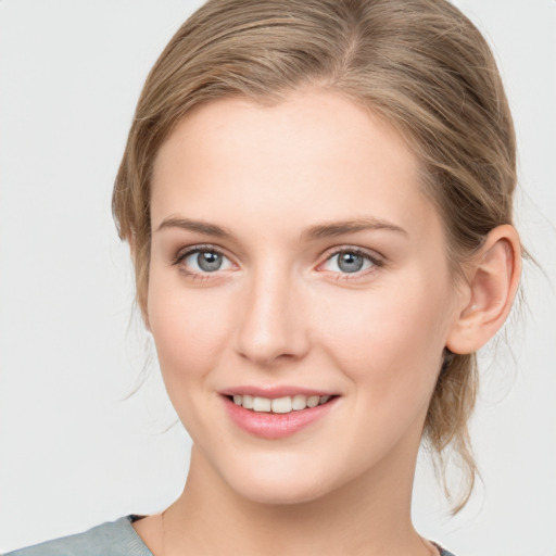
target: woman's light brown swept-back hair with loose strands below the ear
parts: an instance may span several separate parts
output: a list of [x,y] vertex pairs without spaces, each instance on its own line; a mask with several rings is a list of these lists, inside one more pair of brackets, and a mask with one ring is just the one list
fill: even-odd
[[[151,175],[156,154],[192,109],[222,98],[274,104],[302,87],[343,94],[378,114],[420,161],[441,215],[454,274],[485,236],[513,223],[516,144],[490,48],[445,0],[210,0],[175,34],[141,92],[113,193],[121,238],[132,244],[146,314]],[[475,354],[446,351],[422,439],[440,463],[459,459],[469,498],[477,467],[468,418]],[[446,451],[452,446],[452,451]]]

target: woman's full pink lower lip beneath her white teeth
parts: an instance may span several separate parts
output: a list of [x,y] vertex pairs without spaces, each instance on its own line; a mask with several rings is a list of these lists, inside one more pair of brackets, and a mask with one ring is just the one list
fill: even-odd
[[299,412],[258,413],[235,404],[229,397],[223,396],[226,410],[231,420],[242,430],[262,439],[277,440],[291,437],[300,430],[324,418],[336,405],[338,397],[316,407],[307,407]]

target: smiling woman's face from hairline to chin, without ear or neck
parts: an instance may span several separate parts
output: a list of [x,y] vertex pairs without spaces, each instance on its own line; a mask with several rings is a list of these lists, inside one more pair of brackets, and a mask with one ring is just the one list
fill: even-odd
[[318,91],[210,103],[162,147],[147,316],[195,465],[236,493],[412,475],[462,305],[417,166]]

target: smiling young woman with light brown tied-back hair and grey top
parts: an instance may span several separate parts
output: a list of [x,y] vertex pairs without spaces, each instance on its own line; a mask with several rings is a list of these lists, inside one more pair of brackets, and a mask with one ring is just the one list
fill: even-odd
[[450,3],[208,1],[147,79],[113,197],[187,483],[13,554],[450,555],[413,527],[416,457],[455,451],[465,504],[515,185],[495,62]]

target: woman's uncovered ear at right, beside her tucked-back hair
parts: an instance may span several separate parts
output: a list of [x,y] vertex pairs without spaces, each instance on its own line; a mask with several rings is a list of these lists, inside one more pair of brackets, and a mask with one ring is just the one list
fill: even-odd
[[521,274],[516,229],[507,224],[494,228],[465,269],[466,295],[446,341],[446,348],[458,354],[479,350],[509,314]]

